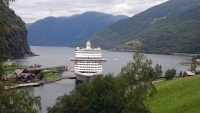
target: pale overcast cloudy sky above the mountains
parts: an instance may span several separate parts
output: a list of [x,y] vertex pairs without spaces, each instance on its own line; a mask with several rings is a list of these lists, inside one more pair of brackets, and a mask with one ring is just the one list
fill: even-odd
[[16,0],[10,8],[25,23],[48,16],[72,16],[87,11],[133,16],[168,0]]

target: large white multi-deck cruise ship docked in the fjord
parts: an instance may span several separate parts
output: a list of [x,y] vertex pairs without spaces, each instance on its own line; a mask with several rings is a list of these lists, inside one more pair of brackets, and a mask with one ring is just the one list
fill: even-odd
[[87,41],[86,48],[77,47],[75,58],[70,58],[74,62],[74,73],[79,81],[89,82],[94,75],[102,74],[102,63],[107,59],[102,58],[101,48],[91,48],[91,43]]

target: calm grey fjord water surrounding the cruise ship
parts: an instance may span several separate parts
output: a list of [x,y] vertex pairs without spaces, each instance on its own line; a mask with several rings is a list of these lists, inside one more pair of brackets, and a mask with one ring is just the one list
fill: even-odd
[[[23,59],[14,59],[16,63],[23,65],[40,64],[43,67],[55,67],[60,65],[68,66],[68,69],[73,68],[73,62],[69,58],[74,57],[74,48],[69,47],[43,47],[31,46],[32,52],[39,56],[26,57]],[[103,50],[103,58],[107,62],[103,63],[103,74],[114,73],[117,75],[123,66],[129,61],[132,61],[133,53],[131,52],[109,52]],[[162,65],[163,75],[167,69],[175,68],[177,74],[182,71],[190,69],[190,66],[182,66],[180,62],[190,62],[191,57],[186,56],[173,56],[173,55],[158,55],[158,54],[145,54],[148,59],[152,59],[153,67],[158,63]],[[41,96],[42,113],[46,112],[47,106],[55,104],[58,96],[69,93],[75,87],[75,80],[63,79],[61,81],[44,84],[40,87],[35,87],[35,95]]]

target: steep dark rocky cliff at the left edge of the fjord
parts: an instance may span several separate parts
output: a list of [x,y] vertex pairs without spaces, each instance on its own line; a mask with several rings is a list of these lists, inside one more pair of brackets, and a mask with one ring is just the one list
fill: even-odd
[[[33,56],[34,53],[27,44],[25,23],[12,9],[7,8],[2,0],[0,0],[0,18],[0,32],[5,48],[4,58]],[[2,31],[5,31],[6,35]]]

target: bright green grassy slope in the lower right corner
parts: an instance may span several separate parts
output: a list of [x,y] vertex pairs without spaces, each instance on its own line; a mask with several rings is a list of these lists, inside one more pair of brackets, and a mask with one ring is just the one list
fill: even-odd
[[200,113],[200,75],[155,83],[152,113]]

